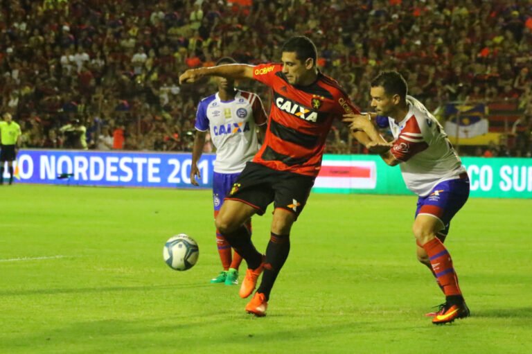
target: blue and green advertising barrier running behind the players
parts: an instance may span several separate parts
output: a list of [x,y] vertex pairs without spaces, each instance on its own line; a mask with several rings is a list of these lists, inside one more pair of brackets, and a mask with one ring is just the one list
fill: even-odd
[[[204,188],[212,186],[214,159],[214,154],[204,154],[198,163]],[[463,157],[462,161],[472,197],[532,198],[532,159]],[[191,164],[190,153],[21,150],[15,178],[30,184],[195,188],[190,184]],[[313,191],[411,194],[400,168],[391,168],[374,155],[324,155]]]

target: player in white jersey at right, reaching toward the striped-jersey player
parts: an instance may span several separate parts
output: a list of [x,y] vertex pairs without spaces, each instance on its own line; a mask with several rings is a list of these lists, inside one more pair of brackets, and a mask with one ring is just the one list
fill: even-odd
[[[376,132],[389,127],[393,142],[372,142],[389,166],[399,165],[407,187],[418,195],[414,236],[418,260],[427,265],[445,294],[445,303],[433,313],[433,324],[468,317],[452,259],[443,245],[450,221],[469,197],[469,178],[436,118],[425,106],[407,96],[407,83],[397,71],[380,73],[371,82],[375,114],[346,114],[353,131]],[[430,315],[430,314],[427,314]]]

